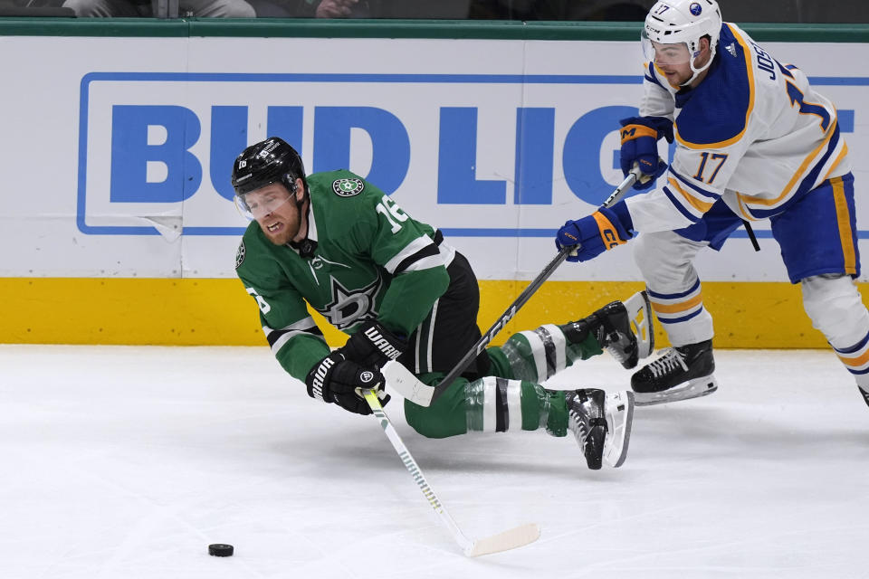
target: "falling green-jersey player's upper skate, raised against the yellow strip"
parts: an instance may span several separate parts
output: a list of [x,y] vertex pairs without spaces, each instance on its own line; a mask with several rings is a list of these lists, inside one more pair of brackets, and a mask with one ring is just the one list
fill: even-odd
[[654,349],[651,311],[648,296],[640,291],[625,302],[608,303],[591,316],[560,328],[573,344],[583,341],[591,332],[601,349],[625,368],[633,368]]

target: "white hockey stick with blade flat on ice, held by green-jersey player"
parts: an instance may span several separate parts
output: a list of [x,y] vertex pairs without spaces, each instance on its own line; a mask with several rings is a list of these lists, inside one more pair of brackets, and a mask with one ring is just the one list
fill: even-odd
[[363,390],[362,395],[365,396],[365,401],[371,407],[371,412],[374,413],[375,418],[380,421],[380,426],[383,428],[383,432],[386,432],[389,441],[392,442],[392,447],[396,449],[398,458],[405,464],[405,468],[414,478],[419,489],[423,491],[423,496],[428,500],[432,508],[435,509],[435,513],[441,517],[444,525],[450,529],[455,542],[462,547],[465,555],[476,557],[489,555],[490,553],[500,553],[501,551],[528,545],[540,537],[540,527],[534,523],[529,523],[476,541],[468,538],[458,525],[455,524],[453,517],[450,517],[450,514],[446,512],[444,505],[441,504],[441,501],[435,495],[435,490],[425,480],[423,471],[419,469],[419,465],[416,464],[414,457],[410,455],[410,451],[407,450],[405,443],[401,441],[401,437],[398,436],[398,432],[396,432],[392,422],[389,421],[387,413],[383,412],[383,406],[380,405],[380,399],[377,398],[375,391]]

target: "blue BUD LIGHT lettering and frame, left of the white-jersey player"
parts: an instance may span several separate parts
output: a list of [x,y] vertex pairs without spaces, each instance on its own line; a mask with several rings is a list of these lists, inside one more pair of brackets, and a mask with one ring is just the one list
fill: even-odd
[[[241,235],[235,159],[279,136],[311,173],[348,168],[412,214],[444,215],[445,234],[549,237],[558,219],[540,209],[600,204],[621,181],[618,120],[638,111],[608,98],[633,90],[639,99],[642,82],[635,74],[90,72],[80,90],[77,225],[170,242]],[[577,94],[595,96],[578,104]],[[363,183],[338,185],[335,194],[348,196]],[[521,227],[480,226],[472,215],[516,223],[523,208],[533,219]]]

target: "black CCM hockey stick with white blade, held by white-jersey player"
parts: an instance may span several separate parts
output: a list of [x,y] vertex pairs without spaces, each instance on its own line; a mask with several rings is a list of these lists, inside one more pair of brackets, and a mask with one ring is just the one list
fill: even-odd
[[[610,205],[621,201],[622,197],[625,196],[627,189],[630,188],[631,185],[634,185],[638,175],[638,168],[629,173],[625,177],[625,180],[622,181],[622,184],[616,187],[616,191],[606,198],[603,206],[609,207]],[[480,356],[482,350],[489,345],[495,335],[507,325],[507,322],[516,315],[519,308],[525,305],[525,302],[527,302],[531,296],[540,289],[543,282],[549,279],[552,272],[555,271],[559,265],[568,258],[570,252],[573,252],[575,249],[576,246],[561,248],[558,255],[556,255],[552,261],[549,261],[547,266],[543,268],[543,271],[540,271],[538,276],[534,278],[534,280],[531,280],[528,287],[519,294],[519,298],[513,301],[513,303],[511,303],[507,308],[507,311],[501,314],[501,318],[498,318],[498,321],[496,321],[492,327],[490,327],[486,333],[477,340],[477,343],[468,350],[468,353],[459,360],[459,363],[456,364],[450,373],[444,376],[444,379],[436,386],[430,386],[420,382],[415,375],[407,370],[405,366],[400,365],[397,362],[388,362],[387,365],[384,365],[382,368],[383,375],[387,378],[387,384],[391,388],[394,388],[398,394],[401,394],[412,403],[419,404],[420,406],[429,406],[431,403],[434,403],[438,396],[444,394],[444,391],[449,387],[449,385],[453,384],[454,380],[464,372],[464,369],[467,368],[477,356]]]

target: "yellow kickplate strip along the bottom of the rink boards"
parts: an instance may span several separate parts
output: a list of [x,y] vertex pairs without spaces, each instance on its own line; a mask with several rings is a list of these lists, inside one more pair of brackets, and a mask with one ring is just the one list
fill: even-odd
[[[527,284],[480,282],[483,331]],[[642,282],[635,281],[548,281],[493,344],[520,330],[583,318],[640,289]],[[716,347],[828,347],[803,311],[799,288],[789,283],[707,281],[703,304],[715,320]],[[256,302],[232,279],[0,278],[5,344],[265,346],[258,314]],[[316,313],[314,318],[330,346],[344,344],[342,332]],[[657,321],[655,331],[656,343],[666,346]]]

